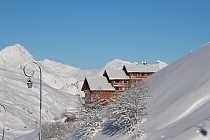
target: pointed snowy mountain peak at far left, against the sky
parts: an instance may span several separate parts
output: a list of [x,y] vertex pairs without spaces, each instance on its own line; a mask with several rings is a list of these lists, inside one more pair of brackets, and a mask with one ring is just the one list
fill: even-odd
[[20,44],[8,46],[0,51],[0,65],[4,67],[19,67],[29,61],[34,61],[33,56]]

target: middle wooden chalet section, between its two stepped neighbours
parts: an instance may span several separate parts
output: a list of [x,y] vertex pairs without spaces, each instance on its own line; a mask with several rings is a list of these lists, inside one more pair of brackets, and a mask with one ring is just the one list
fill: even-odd
[[123,92],[130,86],[129,76],[123,70],[104,71],[104,77],[115,88],[116,92]]

